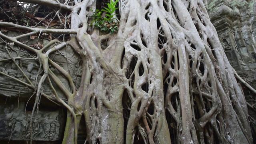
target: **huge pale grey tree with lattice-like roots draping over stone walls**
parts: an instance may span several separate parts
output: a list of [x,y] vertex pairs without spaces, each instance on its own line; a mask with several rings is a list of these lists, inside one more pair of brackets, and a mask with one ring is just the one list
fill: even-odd
[[[43,21],[49,19],[44,15],[41,27],[30,27],[28,23],[8,23],[15,22],[8,14],[6,22],[0,22],[1,28],[29,32],[16,37],[0,33],[10,56],[5,60],[14,62],[25,78],[0,74],[36,91],[30,131],[42,95],[68,110],[63,144],[77,143],[81,117],[88,144],[130,144],[135,140],[150,144],[252,144],[244,94],[201,0],[120,0],[118,15],[109,14],[116,18],[112,24],[119,23],[118,31],[112,34],[93,26],[96,9],[104,7],[101,2],[19,2],[30,3],[26,8],[56,10],[52,20],[60,23],[58,28],[49,28],[50,21],[42,28]],[[39,49],[19,41],[35,34],[63,37],[37,45]],[[14,49],[13,44],[20,49]],[[80,84],[74,82],[68,68],[54,62],[60,49],[72,49],[80,58]],[[22,67],[21,60],[27,58],[14,57],[10,51],[26,52],[30,60],[38,62],[43,72],[38,70],[34,83]],[[44,93],[46,82],[52,94]]]

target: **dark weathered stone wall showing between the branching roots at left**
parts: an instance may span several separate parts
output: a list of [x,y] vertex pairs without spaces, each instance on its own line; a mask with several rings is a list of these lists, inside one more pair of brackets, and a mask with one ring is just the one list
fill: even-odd
[[[21,33],[8,31],[8,36],[18,36]],[[49,40],[30,38],[21,39],[28,46],[34,44],[46,45]],[[8,74],[22,82],[29,83],[22,71],[30,79],[32,84],[38,85],[43,75],[39,62],[35,60],[35,54],[26,52],[20,47],[13,46],[0,40],[0,72]],[[10,54],[8,54],[8,52]],[[10,55],[16,58],[16,63],[10,59]],[[22,56],[26,59],[20,59]],[[64,70],[70,73],[76,86],[79,87],[81,70],[79,57],[76,56],[71,48],[59,50],[56,54],[49,56],[57,64],[62,66]],[[18,68],[22,69],[22,71]],[[63,82],[64,86],[70,90],[68,81],[56,70],[50,66],[50,70]],[[38,75],[38,76],[37,76]],[[65,101],[66,98],[62,91],[58,89],[56,84],[52,83],[58,92],[58,95]],[[42,90],[48,96],[53,97],[53,92],[46,80],[42,86]],[[6,76],[0,76],[0,144],[15,143],[16,141],[27,141],[29,136],[29,125],[32,108],[35,101],[35,92],[33,88],[28,88]],[[40,98],[40,105],[32,118],[32,138],[33,141],[40,144],[50,144],[50,142],[59,143],[62,141],[66,121],[66,110],[60,106],[50,102],[43,96]],[[48,143],[49,142],[49,143]],[[20,144],[20,143],[19,143]]]

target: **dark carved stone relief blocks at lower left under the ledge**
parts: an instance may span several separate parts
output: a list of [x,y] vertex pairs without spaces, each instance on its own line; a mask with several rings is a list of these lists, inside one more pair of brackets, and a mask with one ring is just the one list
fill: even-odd
[[[4,104],[0,103],[0,131],[1,140],[29,140],[30,139],[30,116],[31,112],[25,112],[25,103],[20,104]],[[42,141],[55,141],[61,139],[63,128],[63,118],[60,110],[39,111],[32,119],[32,139]]]

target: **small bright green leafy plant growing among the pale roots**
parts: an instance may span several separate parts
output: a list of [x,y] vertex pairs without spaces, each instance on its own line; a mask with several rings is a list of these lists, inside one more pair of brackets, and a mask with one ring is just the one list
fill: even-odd
[[[92,18],[94,19],[90,26],[98,27],[100,30],[109,32],[110,34],[113,34],[113,32],[118,30],[118,22],[114,16],[114,12],[118,9],[116,8],[116,3],[118,0],[113,2],[110,0],[110,3],[108,3],[108,7],[105,7],[102,10],[96,9],[96,11],[93,13]],[[104,14],[106,13],[106,14]],[[105,15],[104,17],[102,15]]]

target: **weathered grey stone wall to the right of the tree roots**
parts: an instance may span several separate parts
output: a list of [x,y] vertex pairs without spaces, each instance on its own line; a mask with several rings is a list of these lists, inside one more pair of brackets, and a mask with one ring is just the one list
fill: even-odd
[[[256,89],[256,1],[205,0],[204,3],[230,64]],[[252,106],[248,106],[248,114],[255,132],[256,96],[245,87],[243,90]]]

